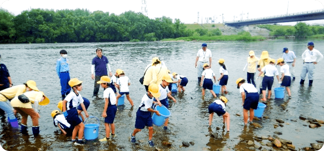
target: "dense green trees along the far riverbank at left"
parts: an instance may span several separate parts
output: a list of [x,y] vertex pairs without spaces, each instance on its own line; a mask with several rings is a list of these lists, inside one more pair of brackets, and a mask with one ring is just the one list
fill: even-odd
[[156,41],[195,33],[179,19],[172,22],[169,17],[150,19],[133,11],[115,15],[87,9],[31,9],[17,16],[0,9],[0,27],[0,43]]

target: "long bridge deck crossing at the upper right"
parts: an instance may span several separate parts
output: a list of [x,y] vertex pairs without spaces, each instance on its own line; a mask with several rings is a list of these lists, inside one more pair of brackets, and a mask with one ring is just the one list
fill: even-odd
[[226,21],[224,22],[227,26],[245,26],[253,24],[270,24],[270,23],[282,23],[282,22],[293,22],[293,21],[306,21],[306,20],[317,20],[324,19],[324,9],[312,10],[307,12],[298,12],[285,15],[278,15],[272,17],[261,17],[246,20]]

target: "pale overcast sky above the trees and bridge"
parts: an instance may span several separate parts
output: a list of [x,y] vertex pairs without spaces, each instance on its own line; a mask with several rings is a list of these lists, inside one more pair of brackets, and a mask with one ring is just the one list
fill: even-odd
[[[125,11],[142,12],[144,0],[0,0],[1,8],[12,14],[19,15],[30,8],[42,9],[76,9],[84,8],[89,11],[101,10],[103,12],[120,15]],[[206,17],[221,21],[224,14],[225,21],[252,19],[258,17],[275,16],[296,12],[323,9],[324,0],[145,0],[147,16],[149,18],[170,17],[178,18],[181,22],[192,24],[198,21],[205,23]],[[202,20],[203,19],[203,20]],[[322,23],[323,20],[307,21],[308,24]],[[295,22],[282,23],[295,25]]]

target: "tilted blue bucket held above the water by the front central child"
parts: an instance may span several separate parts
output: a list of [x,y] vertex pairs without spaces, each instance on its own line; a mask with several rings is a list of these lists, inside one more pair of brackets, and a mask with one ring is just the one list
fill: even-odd
[[157,116],[156,113],[153,114],[152,120],[153,124],[156,126],[161,126],[164,124],[165,120],[171,115],[171,112],[165,106],[154,106],[155,110],[160,112],[160,116]]

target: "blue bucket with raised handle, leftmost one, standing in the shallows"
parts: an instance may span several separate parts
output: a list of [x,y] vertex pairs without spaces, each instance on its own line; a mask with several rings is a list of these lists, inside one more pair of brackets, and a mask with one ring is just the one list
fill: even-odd
[[[89,118],[96,118],[98,123],[89,123],[86,124],[87,119]],[[84,138],[86,140],[93,140],[98,138],[98,132],[99,132],[99,119],[95,116],[90,116],[86,120],[84,120]]]

